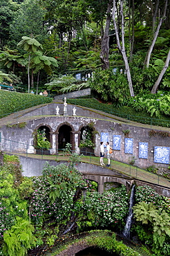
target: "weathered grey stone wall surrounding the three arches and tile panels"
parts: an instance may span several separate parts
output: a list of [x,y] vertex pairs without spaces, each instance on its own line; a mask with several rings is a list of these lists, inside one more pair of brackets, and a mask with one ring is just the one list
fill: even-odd
[[[119,135],[121,137],[120,150],[114,150],[111,157],[116,161],[124,163],[131,163],[134,161],[134,165],[138,167],[147,168],[151,165],[157,167],[167,168],[169,163],[155,163],[154,151],[155,147],[167,147],[169,149],[170,136],[164,137],[161,132],[158,132],[156,136],[151,136],[153,129],[148,128],[147,125],[135,126],[134,122],[122,122],[111,118],[111,115],[104,115],[97,113],[97,111],[90,111],[82,107],[76,107],[77,116],[73,116],[73,105],[68,104],[68,115],[70,116],[55,116],[55,108],[59,105],[59,108],[63,108],[63,104],[48,104],[44,107],[37,108],[35,111],[28,112],[24,115],[26,117],[26,127],[12,127],[6,126],[0,127],[1,143],[0,150],[7,152],[28,152],[34,151],[34,138],[33,131],[41,126],[46,126],[50,130],[50,143],[52,149],[51,154],[57,153],[57,143],[59,136],[59,128],[62,125],[67,125],[71,130],[71,144],[75,152],[79,153],[79,140],[80,130],[90,122],[93,123],[95,131],[98,133],[95,135],[95,156],[100,155],[100,140],[102,133],[108,133],[108,142],[113,147],[113,136]],[[42,116],[41,116],[42,114]],[[52,114],[53,116],[51,116]],[[49,115],[49,116],[48,116]],[[32,118],[29,120],[29,116]],[[23,116],[21,116],[23,118]],[[17,119],[19,122],[19,118]],[[163,131],[164,127],[156,127],[157,131]],[[124,131],[129,130],[129,137],[126,137]],[[169,131],[166,131],[169,134]],[[126,138],[133,139],[133,151],[132,154],[125,152],[125,140]],[[147,158],[139,158],[139,143],[148,143],[148,156]],[[163,157],[163,156],[162,156]]]

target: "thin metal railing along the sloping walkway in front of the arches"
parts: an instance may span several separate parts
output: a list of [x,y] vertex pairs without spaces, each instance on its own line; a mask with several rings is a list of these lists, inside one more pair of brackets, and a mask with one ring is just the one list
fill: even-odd
[[[55,154],[50,154],[53,149],[38,149],[36,154],[36,150],[33,152],[32,145],[26,143],[20,143],[14,140],[9,140],[6,138],[1,138],[0,140],[0,150],[6,152],[6,154],[17,154],[20,156],[32,157],[32,158],[39,158],[39,159],[46,159],[53,160],[53,161],[70,161],[70,156],[75,151],[66,152],[66,149],[58,149],[58,152]],[[29,153],[32,150],[32,153]],[[55,150],[54,150],[55,152]],[[84,163],[91,163],[93,165],[100,165],[100,156],[95,156],[93,152],[80,152],[82,156],[82,162]],[[108,163],[108,159],[104,158],[104,164],[106,167]],[[170,183],[168,179],[165,179],[158,174],[153,174],[147,170],[144,170],[140,167],[129,165],[128,163],[123,163],[120,161],[115,161],[114,158],[111,158],[111,163],[109,168],[111,170],[115,170],[117,172],[127,174],[130,177],[138,179],[140,181],[148,181],[150,183],[162,185],[164,187],[170,188]],[[104,169],[105,170],[105,169]]]

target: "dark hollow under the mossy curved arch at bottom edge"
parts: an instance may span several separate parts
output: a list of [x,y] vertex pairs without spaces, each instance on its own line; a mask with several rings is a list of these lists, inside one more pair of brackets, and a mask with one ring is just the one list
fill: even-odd
[[119,256],[117,253],[108,253],[100,248],[88,247],[76,253],[75,256]]

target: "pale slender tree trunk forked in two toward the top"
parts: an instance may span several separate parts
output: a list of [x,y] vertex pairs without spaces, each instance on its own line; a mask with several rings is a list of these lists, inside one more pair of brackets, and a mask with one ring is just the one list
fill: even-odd
[[117,47],[119,48],[120,53],[122,54],[122,57],[124,60],[127,80],[129,83],[129,90],[131,93],[131,97],[133,97],[134,93],[133,93],[133,84],[132,84],[132,80],[131,80],[131,72],[130,72],[129,63],[127,60],[125,46],[124,46],[124,15],[123,15],[123,1],[122,0],[120,0],[120,13],[121,13],[121,17],[122,17],[122,46],[120,45],[120,37],[118,35],[117,24],[115,21],[115,0],[113,0],[113,24],[115,26],[115,36],[116,36],[116,41],[117,41]]

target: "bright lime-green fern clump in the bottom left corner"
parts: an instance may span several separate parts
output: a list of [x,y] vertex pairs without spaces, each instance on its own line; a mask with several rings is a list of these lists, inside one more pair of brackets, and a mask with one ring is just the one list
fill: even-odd
[[35,237],[32,235],[34,227],[26,219],[16,217],[15,225],[3,235],[5,244],[3,253],[9,256],[24,256],[28,249],[35,246]]

